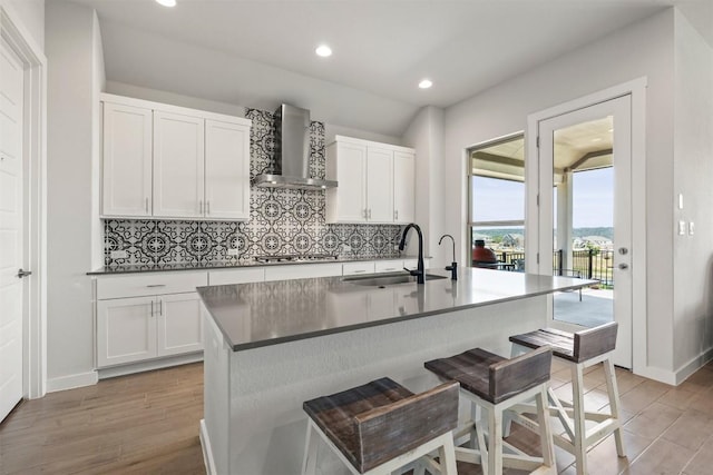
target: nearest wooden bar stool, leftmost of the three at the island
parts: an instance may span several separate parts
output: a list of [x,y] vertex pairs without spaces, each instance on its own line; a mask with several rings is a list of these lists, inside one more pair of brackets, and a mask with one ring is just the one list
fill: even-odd
[[[458,425],[458,384],[413,394],[381,378],[303,405],[310,416],[303,474],[316,473],[319,434],[353,474],[391,474],[417,465],[420,473],[456,474],[452,429]],[[409,465],[411,464],[411,465]]]

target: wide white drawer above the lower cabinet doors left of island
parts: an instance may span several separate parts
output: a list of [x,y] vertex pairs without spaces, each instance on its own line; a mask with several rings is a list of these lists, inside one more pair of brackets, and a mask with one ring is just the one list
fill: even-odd
[[131,274],[97,278],[97,299],[195,291],[208,285],[206,271]]

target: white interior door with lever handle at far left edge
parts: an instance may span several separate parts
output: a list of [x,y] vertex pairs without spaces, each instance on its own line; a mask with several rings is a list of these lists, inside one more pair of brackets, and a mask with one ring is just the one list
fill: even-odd
[[23,67],[0,44],[0,420],[22,398]]

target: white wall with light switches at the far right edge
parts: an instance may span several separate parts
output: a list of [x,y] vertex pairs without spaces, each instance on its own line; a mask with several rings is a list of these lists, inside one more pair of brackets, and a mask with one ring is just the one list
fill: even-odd
[[678,11],[674,24],[674,192],[684,202],[674,212],[695,224],[693,236],[675,236],[673,256],[674,368],[687,376],[713,346],[713,48]]

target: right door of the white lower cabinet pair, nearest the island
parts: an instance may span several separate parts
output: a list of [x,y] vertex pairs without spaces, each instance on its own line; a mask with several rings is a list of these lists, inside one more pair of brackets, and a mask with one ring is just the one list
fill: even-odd
[[162,295],[156,301],[158,356],[202,350],[203,319],[198,294]]

